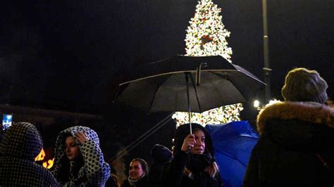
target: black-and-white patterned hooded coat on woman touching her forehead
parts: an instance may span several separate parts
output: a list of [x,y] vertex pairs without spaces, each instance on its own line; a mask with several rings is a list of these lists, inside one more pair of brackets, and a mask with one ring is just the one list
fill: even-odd
[[[83,144],[76,140],[83,161],[81,164],[73,161],[69,163],[65,153],[65,139],[68,135],[75,136],[78,131],[85,132],[88,136],[88,140]],[[61,131],[58,134],[54,155],[52,174],[62,186],[104,186],[109,179],[110,167],[104,162],[104,156],[99,148],[99,137],[88,127],[75,126]],[[79,165],[78,175],[68,174],[64,180],[62,174],[74,169],[75,165]]]

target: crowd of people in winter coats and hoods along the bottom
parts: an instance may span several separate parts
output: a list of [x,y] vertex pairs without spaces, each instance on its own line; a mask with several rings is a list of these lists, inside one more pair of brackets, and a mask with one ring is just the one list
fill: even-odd
[[[288,72],[285,101],[266,105],[257,117],[260,138],[244,186],[334,185],[334,109],[326,105],[327,88],[315,70]],[[211,136],[199,124],[178,127],[173,150],[156,144],[150,166],[142,158],[133,159],[124,181],[104,161],[99,137],[88,127],[58,134],[51,172],[35,163],[41,148],[33,124],[10,127],[0,143],[0,186],[223,186]]]

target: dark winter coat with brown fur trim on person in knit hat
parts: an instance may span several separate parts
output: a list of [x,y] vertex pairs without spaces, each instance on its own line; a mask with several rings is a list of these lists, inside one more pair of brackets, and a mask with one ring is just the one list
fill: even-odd
[[334,110],[311,102],[280,102],[261,110],[260,138],[244,186],[333,186]]

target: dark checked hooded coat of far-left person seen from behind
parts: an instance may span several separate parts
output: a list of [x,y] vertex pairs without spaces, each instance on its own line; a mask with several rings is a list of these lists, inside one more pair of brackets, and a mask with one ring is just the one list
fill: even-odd
[[47,169],[35,163],[42,144],[30,123],[18,122],[7,129],[0,143],[0,186],[59,186]]

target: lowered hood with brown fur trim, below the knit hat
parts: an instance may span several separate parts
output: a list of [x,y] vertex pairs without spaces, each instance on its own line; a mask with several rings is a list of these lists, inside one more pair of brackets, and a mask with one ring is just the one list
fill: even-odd
[[257,129],[285,148],[325,148],[334,142],[334,109],[313,102],[273,103],[259,112]]

